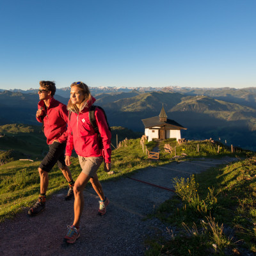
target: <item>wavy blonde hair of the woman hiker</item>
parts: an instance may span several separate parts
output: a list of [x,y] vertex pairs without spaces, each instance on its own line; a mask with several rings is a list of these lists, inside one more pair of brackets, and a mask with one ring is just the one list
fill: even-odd
[[88,103],[92,100],[92,95],[90,93],[90,90],[87,86],[87,84],[83,82],[74,82],[70,85],[72,88],[73,86],[76,86],[80,88],[83,91],[84,100],[80,104],[80,108],[77,108],[76,104],[73,104],[72,101],[69,99],[67,104],[68,111],[76,112],[77,114],[79,111],[81,111],[83,108],[86,108],[88,106]]

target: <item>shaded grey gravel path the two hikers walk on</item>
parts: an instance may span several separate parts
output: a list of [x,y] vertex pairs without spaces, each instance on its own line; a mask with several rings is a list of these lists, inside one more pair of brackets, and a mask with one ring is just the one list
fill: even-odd
[[[186,178],[235,160],[223,157],[170,163],[140,170],[131,177],[172,189],[173,177]],[[108,211],[105,216],[97,215],[99,198],[92,188],[85,189],[81,237],[75,244],[63,242],[67,225],[74,218],[74,200],[66,202],[67,191],[63,189],[47,200],[42,214],[29,217],[26,210],[13,220],[0,223],[0,255],[144,255],[145,238],[166,234],[163,223],[144,217],[173,192],[129,178],[104,182],[102,187],[110,200]]]

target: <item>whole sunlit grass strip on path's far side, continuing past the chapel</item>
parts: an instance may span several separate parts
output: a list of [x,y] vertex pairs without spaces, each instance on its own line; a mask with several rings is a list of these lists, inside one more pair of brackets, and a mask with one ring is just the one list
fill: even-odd
[[[172,145],[177,145],[176,141],[167,140],[168,143]],[[186,152],[191,156],[198,156],[196,147],[191,141],[186,144],[186,150],[183,150],[185,145],[177,146],[177,154],[182,154]],[[147,145],[148,150],[152,148],[156,143],[150,142]],[[197,145],[197,144],[196,144]],[[157,164],[170,163],[170,161],[176,161],[172,159],[172,155],[164,152],[163,145],[160,145],[161,148],[161,159],[159,162],[148,161],[147,155],[143,153],[143,150],[140,145],[140,139],[137,140],[127,140],[122,143],[122,147],[117,150],[113,150],[112,154],[112,163],[113,170],[115,173],[109,177],[109,175],[104,172],[103,165],[99,169],[99,179],[108,180],[116,179],[127,175],[129,173],[135,172],[140,168],[145,168],[147,166],[154,166]],[[191,147],[191,149],[189,149]],[[228,148],[222,150],[219,156],[224,154],[230,154]],[[213,143],[203,142],[200,145],[200,156],[217,156],[217,146]],[[6,216],[12,216],[16,212],[19,212],[23,207],[28,207],[33,200],[38,196],[38,191],[40,188],[40,179],[38,176],[38,166],[40,161],[31,163],[30,161],[13,161],[8,164],[0,166],[0,218],[3,220]],[[81,172],[81,168],[77,161],[77,158],[72,158],[72,175],[74,179]],[[67,186],[67,181],[64,179],[60,170],[57,166],[54,166],[52,171],[49,173],[49,190],[47,195],[51,195],[55,191],[60,190]]]

